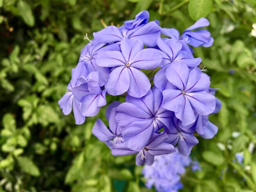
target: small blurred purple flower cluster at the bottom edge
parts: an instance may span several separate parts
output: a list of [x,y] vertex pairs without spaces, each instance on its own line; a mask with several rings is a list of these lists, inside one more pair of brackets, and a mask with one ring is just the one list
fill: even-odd
[[153,165],[144,165],[142,170],[146,187],[150,189],[154,185],[157,192],[177,192],[183,188],[181,175],[189,165],[192,165],[193,172],[201,170],[198,161],[192,161],[189,156],[182,156],[178,151],[155,157]]

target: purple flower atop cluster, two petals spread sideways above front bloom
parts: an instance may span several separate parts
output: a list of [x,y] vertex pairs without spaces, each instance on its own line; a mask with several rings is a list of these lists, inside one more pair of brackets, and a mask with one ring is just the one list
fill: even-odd
[[[136,19],[135,19],[136,20]],[[127,24],[128,25],[128,24]],[[136,24],[135,24],[136,26]],[[151,21],[146,24],[133,26],[133,29],[115,26],[108,26],[97,33],[93,33],[93,43],[115,43],[121,42],[123,39],[141,40],[144,45],[153,47],[157,44],[157,38],[160,37],[160,27],[156,22]]]

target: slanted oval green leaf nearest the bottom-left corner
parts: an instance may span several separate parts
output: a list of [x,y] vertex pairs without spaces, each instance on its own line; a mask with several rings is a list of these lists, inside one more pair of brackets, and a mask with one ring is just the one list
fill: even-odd
[[16,157],[20,168],[28,174],[33,176],[39,176],[40,172],[38,167],[28,157],[18,156]]

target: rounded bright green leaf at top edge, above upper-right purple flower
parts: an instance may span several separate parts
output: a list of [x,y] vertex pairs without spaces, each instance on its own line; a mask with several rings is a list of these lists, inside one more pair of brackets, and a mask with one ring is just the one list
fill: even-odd
[[189,0],[189,15],[193,20],[206,17],[211,12],[212,0]]

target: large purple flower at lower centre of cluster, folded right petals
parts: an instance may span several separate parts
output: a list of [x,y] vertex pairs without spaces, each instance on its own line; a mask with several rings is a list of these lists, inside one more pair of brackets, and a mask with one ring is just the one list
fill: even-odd
[[162,127],[170,127],[173,112],[164,109],[162,93],[153,87],[142,98],[126,96],[126,103],[117,107],[116,119],[127,147],[139,151],[148,143],[151,134]]

